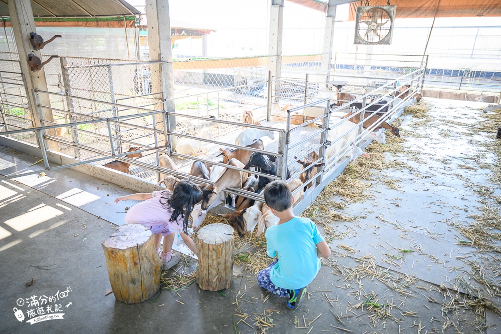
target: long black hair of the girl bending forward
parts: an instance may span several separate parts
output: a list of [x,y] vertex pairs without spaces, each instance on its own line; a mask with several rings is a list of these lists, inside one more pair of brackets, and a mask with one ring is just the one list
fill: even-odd
[[[162,199],[166,201],[163,202]],[[172,195],[168,196],[167,191],[162,192],[160,203],[166,209],[168,208],[165,205],[169,205],[172,208],[172,215],[169,221],[176,221],[177,217],[181,215],[183,218],[183,232],[188,233],[189,216],[191,211],[193,211],[193,207],[201,200],[202,191],[196,184],[190,181],[181,181],[174,188]]]

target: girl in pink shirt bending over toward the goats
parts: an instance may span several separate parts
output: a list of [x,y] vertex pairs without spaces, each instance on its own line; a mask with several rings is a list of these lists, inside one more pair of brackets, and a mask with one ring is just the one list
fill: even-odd
[[[141,224],[153,233],[158,255],[162,259],[163,270],[168,270],[179,262],[179,255],[172,254],[175,230],[186,246],[196,255],[196,246],[187,234],[188,219],[196,203],[202,200],[200,188],[190,182],[179,182],[174,191],[153,191],[152,193],[137,193],[115,198],[115,203],[126,200],[142,201],[127,211],[126,224]],[[160,240],[163,236],[163,251],[160,251]]]

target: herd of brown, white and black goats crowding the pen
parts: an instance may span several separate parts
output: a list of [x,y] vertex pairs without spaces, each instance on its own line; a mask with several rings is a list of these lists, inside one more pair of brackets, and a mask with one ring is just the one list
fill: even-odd
[[[341,93],[341,87],[337,88],[337,103],[331,105],[331,108],[334,106],[342,106],[346,103],[349,103],[351,106],[357,108],[362,107],[361,105],[357,106],[357,103],[350,102],[351,100],[356,99],[355,96]],[[400,93],[398,97],[389,97],[386,98],[387,100],[379,97],[376,104],[367,108],[367,111],[371,112],[372,116],[364,119],[363,127],[370,128],[374,123],[376,123],[377,125],[373,131],[377,132],[370,132],[362,139],[374,139],[382,144],[385,144],[386,140],[383,132],[384,130],[388,130],[396,137],[400,137],[398,127],[393,127],[385,121],[380,121],[380,119],[387,113],[391,100],[393,100],[394,103],[398,103],[398,101],[395,102],[395,100],[402,101],[408,96],[408,94],[412,94],[410,93],[409,86],[403,86],[403,90],[401,89],[401,91],[397,93]],[[403,109],[406,106],[411,105],[414,101],[419,101],[420,99],[421,95],[415,93],[411,99],[406,100],[405,103],[402,104],[401,108]],[[289,109],[289,107],[286,108]],[[376,111],[377,113],[375,113]],[[275,115],[275,117],[282,118],[284,115]],[[348,119],[351,122],[341,122],[342,119]],[[300,125],[306,121],[308,121],[308,119],[305,118],[303,114],[298,113],[291,115],[291,124]],[[331,124],[332,121],[333,118],[331,118]],[[311,179],[317,176],[322,165],[324,165],[326,161],[331,161],[333,157],[339,157],[341,154],[343,156],[351,157],[350,161],[352,162],[361,155],[368,156],[362,151],[362,149],[356,146],[354,140],[359,135],[359,129],[358,127],[354,127],[354,123],[360,123],[360,113],[351,111],[341,119],[334,120],[334,122],[334,126],[331,126],[331,130],[328,131],[328,144],[332,144],[326,148],[324,162],[319,163],[322,160],[319,160],[319,153],[316,151],[313,151],[307,157],[300,160],[297,160],[298,158],[295,157],[297,162],[302,165],[302,173],[300,174],[299,179],[290,180],[288,185],[293,192],[293,196],[296,201],[303,196],[304,192],[309,187],[312,186],[313,180]],[[261,123],[254,117],[252,111],[249,110],[244,111],[242,115],[242,123],[261,125]],[[318,125],[311,123],[310,126],[316,127]],[[235,145],[264,150],[261,138],[265,136],[275,139],[273,130],[260,130],[256,128],[244,129],[244,127],[242,127],[242,131],[235,138]],[[208,139],[212,137],[212,134],[207,128],[202,128],[196,137]],[[346,152],[340,153],[343,148],[349,147],[349,143],[351,143],[350,149]],[[182,139],[176,145],[176,152],[188,156],[199,156],[207,153],[207,149],[204,148],[203,144],[203,141],[196,139]],[[131,154],[126,155],[126,157],[131,159],[141,158],[142,153],[134,152],[138,149],[138,147],[131,147],[129,149]],[[272,155],[239,148],[232,149],[229,147],[225,149],[219,148],[219,151],[220,153],[217,156],[222,157],[223,164],[245,170],[255,168],[257,172],[277,176],[277,159]],[[161,154],[159,156],[159,165],[162,168],[178,171],[178,166],[168,155],[165,154]],[[131,174],[129,171],[129,163],[115,160],[105,164],[104,166]],[[262,175],[252,175],[252,171],[246,173],[219,165],[210,165],[202,161],[193,162],[189,175],[211,181],[211,183],[199,184],[203,193],[203,198],[202,201],[194,207],[191,213],[193,221],[192,227],[194,229],[197,229],[201,225],[201,223],[205,220],[207,211],[211,208],[223,203],[230,206],[233,205],[231,196],[224,191],[225,188],[237,188],[253,193],[262,193],[265,186],[272,181],[272,179]],[[287,169],[287,179],[290,178],[291,174],[289,169]],[[160,174],[160,179],[161,180],[158,184],[164,184],[165,187],[171,191],[174,189],[176,184],[180,182],[178,178],[162,173]],[[295,191],[298,188],[300,189]],[[256,236],[258,236],[264,232],[265,227],[268,228],[276,225],[279,221],[279,218],[270,211],[266,203],[262,203],[260,201],[255,201],[242,196],[236,196],[234,200],[234,207],[235,210],[232,213],[223,214],[221,216],[228,219],[229,224],[238,232],[240,237],[243,237],[245,232],[253,233],[256,225],[258,226]]]

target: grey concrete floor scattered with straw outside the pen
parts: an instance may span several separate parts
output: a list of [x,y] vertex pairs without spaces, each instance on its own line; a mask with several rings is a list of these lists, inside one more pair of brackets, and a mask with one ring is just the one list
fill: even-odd
[[[437,119],[470,124],[481,115],[480,104],[428,102]],[[415,126],[411,116],[403,120],[400,145],[408,153],[386,158],[401,159],[406,167],[383,171],[368,181],[372,198],[348,203],[342,213],[359,221],[332,222],[339,232],[330,244],[334,254],[308,286],[309,300],[296,311],[264,292],[245,270],[235,273],[225,296],[192,284],[177,293],[162,290],[140,304],[117,302],[113,294],[105,296],[110,283],[101,243],[125,214],[113,198],[131,191],[72,170],[0,182],[0,332],[501,332],[498,314],[476,315],[455,292],[484,292],[469,275],[467,261],[481,263],[485,277],[500,280],[492,269],[500,267],[498,254],[459,245],[457,239],[465,237],[455,229],[460,222],[473,223],[469,215],[478,212],[481,197],[471,191],[472,184],[493,186],[487,181],[490,171],[469,159],[479,154],[477,144],[493,135],[470,135],[454,126],[444,137],[436,131],[443,124]],[[423,129],[425,136],[416,135]],[[0,159],[4,175],[39,160],[6,147],[0,148]],[[489,161],[496,159],[486,152],[482,162]],[[388,178],[397,182],[396,189],[382,182]],[[52,300],[58,291],[67,296]],[[498,293],[482,295],[499,307]],[[28,307],[32,296],[39,304],[47,300],[44,308],[61,305],[64,319],[26,323],[27,311],[37,311]],[[24,323],[16,319],[14,307],[24,312]]]

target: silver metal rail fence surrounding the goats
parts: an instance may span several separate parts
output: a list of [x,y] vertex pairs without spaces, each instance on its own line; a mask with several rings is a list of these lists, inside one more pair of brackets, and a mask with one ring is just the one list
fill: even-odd
[[[130,68],[132,66],[145,65],[147,64],[127,64],[124,67]],[[385,102],[391,108],[388,108],[388,111],[381,117],[378,123],[364,130],[361,124],[365,119],[364,113],[368,110],[367,108],[380,101],[382,97],[393,95],[394,92],[398,91],[400,86],[405,84],[410,84],[412,91],[419,91],[424,73],[424,68],[420,68],[393,80],[378,78],[378,80],[384,81],[384,84],[380,87],[372,87],[373,89],[368,89],[367,92],[360,93],[360,96],[356,100],[341,107],[334,106],[334,102],[337,102],[337,97],[333,94],[329,85],[327,85],[334,78],[334,75],[322,74],[308,75],[305,77],[305,81],[301,82],[295,78],[271,77],[269,73],[268,77],[270,79],[268,82],[271,84],[265,85],[267,91],[266,98],[250,94],[249,87],[251,85],[247,83],[247,85],[204,92],[195,96],[163,99],[163,102],[154,105],[154,107],[160,106],[158,110],[154,110],[151,105],[136,106],[128,103],[133,98],[142,99],[143,97],[141,96],[134,96],[131,99],[122,98],[122,101],[112,101],[113,96],[111,91],[104,86],[102,86],[103,89],[94,92],[95,96],[100,97],[100,99],[88,97],[88,94],[93,93],[92,89],[77,90],[82,96],[73,93],[72,82],[76,84],[80,83],[80,81],[69,80],[71,79],[70,71],[72,69],[78,68],[78,71],[81,72],[97,69],[96,71],[108,74],[106,78],[109,78],[109,69],[112,69],[113,75],[113,68],[120,67],[122,65],[119,64],[116,66],[110,66],[110,64],[79,67],[63,66],[61,80],[62,88],[65,88],[66,91],[35,90],[35,94],[48,95],[51,97],[51,103],[54,102],[61,106],[61,109],[56,110],[52,106],[39,105],[39,109],[52,109],[60,113],[63,119],[69,119],[69,122],[65,124],[55,124],[56,122],[53,122],[54,124],[49,125],[47,121],[44,121],[45,127],[33,130],[8,131],[5,135],[14,136],[26,134],[27,132],[34,133],[34,136],[39,139],[46,168],[50,167],[47,155],[45,154],[46,143],[53,142],[59,145],[61,152],[73,155],[81,161],[65,166],[51,167],[51,169],[71,167],[91,162],[103,163],[109,161],[108,159],[117,159],[132,164],[134,167],[131,168],[131,172],[134,175],[149,180],[156,180],[159,173],[173,174],[186,178],[189,176],[191,164],[195,160],[243,171],[237,167],[223,165],[219,161],[219,158],[217,158],[218,149],[229,146],[275,156],[278,159],[278,174],[277,176],[268,177],[287,180],[287,171],[289,169],[292,174],[291,178],[289,178],[290,181],[297,178],[302,172],[300,164],[297,162],[315,151],[318,152],[319,158],[310,168],[314,168],[316,163],[322,163],[323,165],[320,171],[307,182],[307,184],[315,183],[315,186],[311,187],[307,193],[311,195],[321,191],[325,182],[332,180],[340,168],[344,168],[344,164],[347,161],[346,156],[350,155],[350,145],[346,144],[343,147],[340,146],[336,154],[327,159],[326,149],[332,145],[336,145],[341,140],[341,137],[339,137],[333,141],[329,141],[328,130],[336,129],[342,123],[350,123],[349,119],[341,120],[336,116],[346,114],[352,110],[351,107],[356,107],[357,103],[361,103],[361,107],[356,108],[358,111],[354,115],[351,115],[352,118],[356,115],[361,115],[361,122],[351,124],[351,130],[358,129],[358,135],[353,140],[356,143],[360,143],[370,131],[374,131],[380,127],[382,122],[392,117],[394,118],[398,112],[401,112],[399,109],[401,105],[398,104],[401,101],[395,105],[393,103],[397,100]],[[354,82],[358,82],[358,80],[368,80],[368,78],[365,76],[353,78]],[[355,87],[356,84],[353,84],[353,86]],[[56,84],[50,85],[50,87],[53,90],[61,89]],[[367,98],[376,94],[380,94],[377,100],[372,104],[367,103]],[[326,95],[327,97],[325,97]],[[241,100],[235,98],[238,96],[240,96]],[[248,99],[255,99],[255,115],[261,121],[262,125],[241,123],[240,116],[243,109],[249,108],[249,105],[246,104]],[[196,101],[196,104],[190,104],[192,101]],[[209,103],[209,101],[213,102]],[[173,102],[175,110],[168,110],[167,106],[169,102]],[[282,107],[284,104],[286,106]],[[277,116],[276,112],[278,110],[282,111],[282,116],[279,115],[282,119],[273,119],[274,116]],[[294,124],[292,121],[295,115],[301,116],[299,124]],[[215,118],[211,118],[210,116],[215,116]],[[175,120],[175,123],[172,123],[173,120]],[[243,126],[271,130],[275,133],[277,139],[264,140],[264,150],[235,145],[234,138]],[[57,135],[51,136],[45,133],[49,129],[61,129],[61,131],[56,131]],[[196,137],[196,134],[201,129],[210,130],[213,137]],[[207,153],[192,157],[174,150],[172,144],[176,142],[176,139],[189,138],[196,138],[203,142]],[[138,147],[139,150],[137,152],[141,152],[143,156],[135,160],[126,157],[127,150],[125,148],[127,146]],[[177,164],[178,170],[174,171],[159,167],[160,153],[169,154]],[[38,172],[40,171],[33,171],[28,174]],[[260,175],[258,172],[253,173]],[[28,174],[25,173],[23,175]],[[5,178],[14,176],[10,175]],[[191,178],[207,183],[207,180]],[[301,191],[301,189],[298,188],[296,192]],[[249,193],[242,189],[229,189],[229,192],[234,195],[262,199],[261,195]],[[309,200],[311,198],[306,202],[302,201],[301,205],[307,205],[306,203]]]

